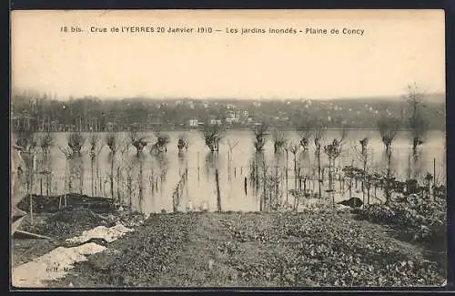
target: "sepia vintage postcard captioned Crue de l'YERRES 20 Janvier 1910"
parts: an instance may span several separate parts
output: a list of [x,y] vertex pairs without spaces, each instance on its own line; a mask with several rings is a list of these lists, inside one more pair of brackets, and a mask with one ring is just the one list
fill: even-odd
[[11,22],[12,289],[447,285],[443,10]]

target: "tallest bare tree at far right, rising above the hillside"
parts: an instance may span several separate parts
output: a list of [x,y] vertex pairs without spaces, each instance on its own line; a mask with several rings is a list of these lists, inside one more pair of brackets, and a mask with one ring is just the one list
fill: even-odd
[[408,86],[406,101],[410,107],[409,127],[412,136],[412,152],[417,155],[417,148],[424,142],[428,122],[423,117],[425,93],[416,84]]

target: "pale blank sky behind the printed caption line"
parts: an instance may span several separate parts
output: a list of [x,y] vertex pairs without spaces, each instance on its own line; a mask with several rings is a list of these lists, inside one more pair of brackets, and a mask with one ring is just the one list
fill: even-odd
[[[167,15],[166,15],[167,14]],[[85,32],[61,33],[78,25]],[[212,26],[212,35],[95,34],[90,26]],[[359,28],[363,36],[238,29]],[[12,87],[58,97],[338,98],[444,92],[440,11],[12,13]]]

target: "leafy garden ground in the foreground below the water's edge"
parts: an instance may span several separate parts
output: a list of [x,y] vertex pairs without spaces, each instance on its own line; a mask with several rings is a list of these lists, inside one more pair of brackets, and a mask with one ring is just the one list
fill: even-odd
[[397,231],[331,211],[154,214],[48,285],[441,285],[445,253],[403,240]]

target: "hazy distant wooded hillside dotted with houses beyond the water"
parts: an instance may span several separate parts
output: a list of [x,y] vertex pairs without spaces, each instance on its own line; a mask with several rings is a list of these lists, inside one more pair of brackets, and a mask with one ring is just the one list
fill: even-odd
[[[219,119],[232,128],[248,128],[268,122],[278,128],[305,126],[328,128],[377,128],[379,117],[393,117],[401,129],[410,129],[412,112],[406,100],[121,100],[96,97],[57,100],[47,95],[15,94],[12,97],[14,130],[33,131],[122,131],[197,128],[190,119],[205,125]],[[430,129],[445,128],[445,103],[423,103],[420,117]],[[228,117],[235,120],[227,120]],[[417,118],[412,124],[419,124]]]

